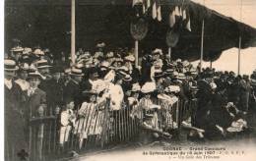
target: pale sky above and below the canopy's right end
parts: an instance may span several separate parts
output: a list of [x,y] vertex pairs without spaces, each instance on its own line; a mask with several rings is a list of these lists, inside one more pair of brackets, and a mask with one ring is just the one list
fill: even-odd
[[[205,5],[224,16],[256,28],[256,0],[192,0]],[[242,4],[242,5],[241,5]],[[241,11],[241,12],[240,12]],[[240,74],[250,75],[256,69],[256,47],[241,50]],[[193,64],[197,64],[194,62]],[[209,67],[209,62],[204,62],[203,67]],[[225,50],[217,61],[213,62],[213,68],[219,71],[238,71],[238,49]]]

